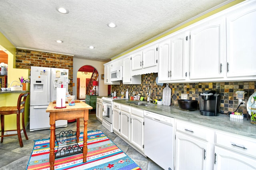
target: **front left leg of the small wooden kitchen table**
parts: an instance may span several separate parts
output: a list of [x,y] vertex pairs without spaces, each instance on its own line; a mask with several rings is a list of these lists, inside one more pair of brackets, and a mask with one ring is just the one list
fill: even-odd
[[50,170],[54,170],[54,161],[55,161],[55,154],[54,154],[54,147],[55,147],[55,123],[50,125]]

